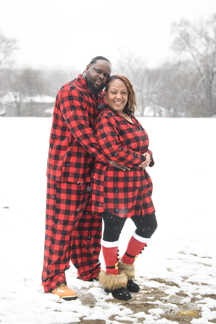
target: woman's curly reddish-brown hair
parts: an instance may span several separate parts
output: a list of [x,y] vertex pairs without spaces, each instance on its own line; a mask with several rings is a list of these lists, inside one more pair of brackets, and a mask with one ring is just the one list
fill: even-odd
[[116,79],[120,79],[126,85],[127,90],[128,90],[128,101],[124,108],[127,110],[127,112],[134,115],[134,111],[137,109],[136,94],[135,94],[134,88],[131,84],[131,81],[128,80],[128,78],[126,78],[126,76],[118,75],[118,74],[111,75],[107,81],[105,90],[108,91],[110,83]]

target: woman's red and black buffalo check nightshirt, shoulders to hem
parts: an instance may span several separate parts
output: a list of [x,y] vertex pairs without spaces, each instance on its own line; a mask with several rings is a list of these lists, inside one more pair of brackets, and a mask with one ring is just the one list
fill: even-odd
[[151,156],[149,139],[139,121],[130,115],[131,123],[115,110],[108,108],[97,117],[95,133],[101,151],[111,160],[127,165],[130,171],[121,171],[97,161],[92,172],[92,211],[109,212],[120,217],[145,216],[155,212],[152,202],[152,180],[146,170],[139,167]]

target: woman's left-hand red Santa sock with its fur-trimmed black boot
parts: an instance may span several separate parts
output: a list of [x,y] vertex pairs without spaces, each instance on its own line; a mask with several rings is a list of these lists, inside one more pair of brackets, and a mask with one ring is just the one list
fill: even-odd
[[99,283],[107,293],[112,293],[117,299],[131,299],[131,294],[126,289],[128,277],[125,273],[119,274],[118,245],[119,241],[108,242],[101,239],[104,260],[107,271],[101,271],[97,276]]

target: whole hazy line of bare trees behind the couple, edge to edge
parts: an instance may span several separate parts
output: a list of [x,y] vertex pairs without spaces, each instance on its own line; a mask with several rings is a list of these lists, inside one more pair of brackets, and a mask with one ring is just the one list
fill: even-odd
[[[196,23],[175,23],[172,35],[178,62],[150,69],[135,54],[119,54],[118,61],[111,62],[112,73],[131,80],[137,116],[216,116],[216,15]],[[85,66],[82,71],[17,70],[8,60],[15,45],[15,40],[0,34],[0,115],[51,116],[59,88],[82,73]]]

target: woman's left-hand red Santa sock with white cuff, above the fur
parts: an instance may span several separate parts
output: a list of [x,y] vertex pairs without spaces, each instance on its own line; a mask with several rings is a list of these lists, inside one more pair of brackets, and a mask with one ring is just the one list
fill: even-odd
[[100,244],[102,245],[107,273],[118,274],[119,273],[119,269],[118,269],[119,240],[115,242],[108,242],[101,239]]

